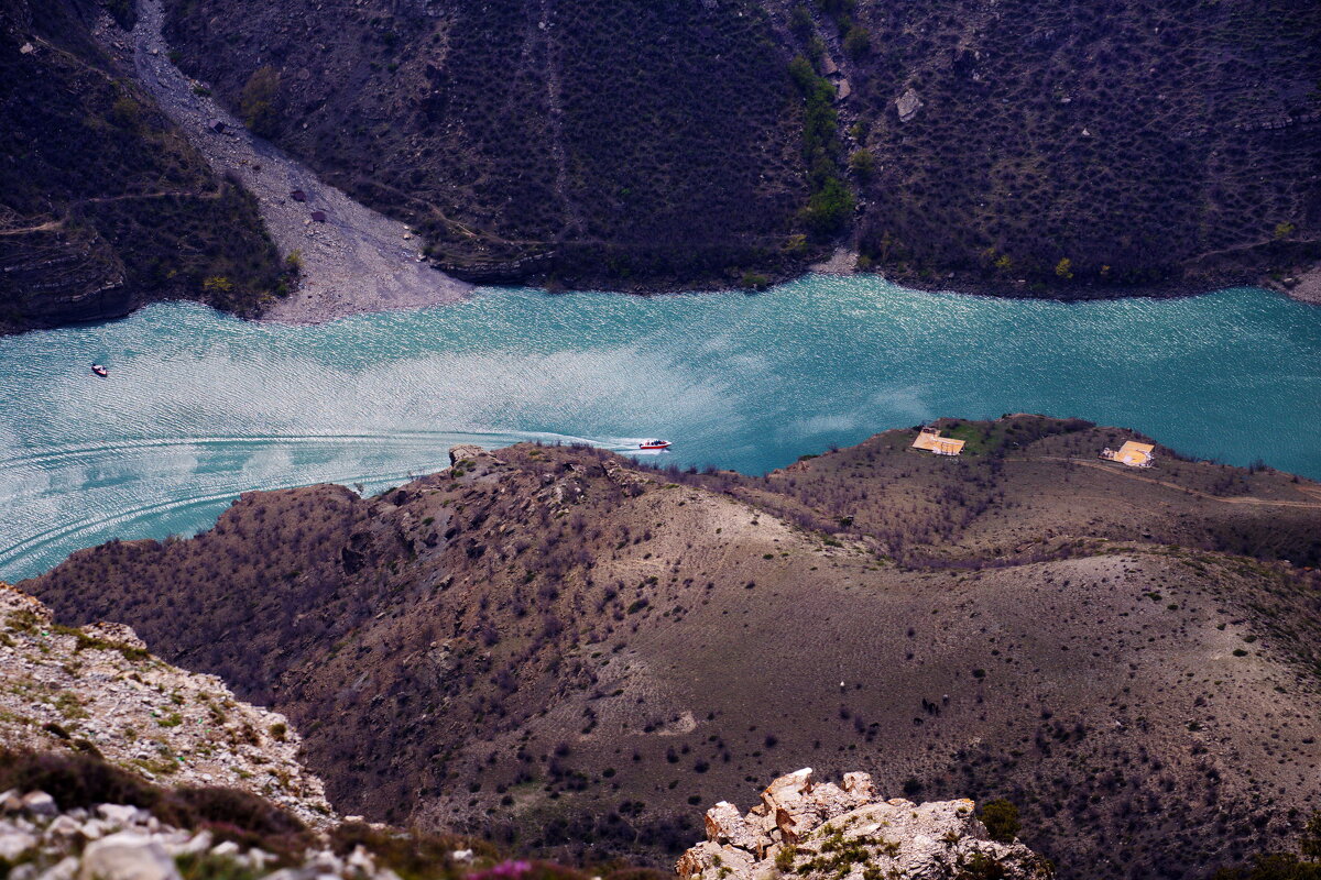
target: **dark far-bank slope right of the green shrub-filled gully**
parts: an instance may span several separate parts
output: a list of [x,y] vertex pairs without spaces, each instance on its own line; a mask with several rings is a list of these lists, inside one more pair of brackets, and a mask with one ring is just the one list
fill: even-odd
[[823,5],[856,5],[820,30],[876,160],[863,252],[901,277],[1069,296],[1321,257],[1317,4]]

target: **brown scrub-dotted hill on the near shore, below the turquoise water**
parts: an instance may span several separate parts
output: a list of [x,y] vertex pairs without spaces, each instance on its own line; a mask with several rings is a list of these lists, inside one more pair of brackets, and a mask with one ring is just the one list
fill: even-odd
[[22,586],[279,707],[376,818],[662,860],[692,805],[810,764],[1008,797],[1066,877],[1284,848],[1321,794],[1321,606],[1275,559],[1314,565],[1321,488],[1100,463],[1124,433],[1085,422],[945,427],[968,455],[890,431],[765,479],[460,447]]

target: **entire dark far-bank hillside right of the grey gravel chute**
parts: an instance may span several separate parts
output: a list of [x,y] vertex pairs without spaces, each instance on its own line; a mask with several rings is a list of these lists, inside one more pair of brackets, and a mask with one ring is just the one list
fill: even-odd
[[1018,296],[1321,259],[1316,4],[166,7],[186,70],[469,278],[754,285],[840,232]]

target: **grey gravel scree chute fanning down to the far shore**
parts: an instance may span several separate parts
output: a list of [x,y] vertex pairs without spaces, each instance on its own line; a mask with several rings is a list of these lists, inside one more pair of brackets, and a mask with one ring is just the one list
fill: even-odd
[[[197,88],[169,59],[161,33],[161,0],[139,0],[137,25],[125,34],[103,25],[106,47],[132,58],[137,82],[206,157],[217,174],[232,174],[256,197],[281,255],[303,263],[299,290],[266,317],[289,323],[330,321],[359,311],[411,309],[462,298],[472,286],[424,261],[420,241],[403,223],[367,208],[324,183],[301,162],[247,129],[214,98]],[[210,120],[225,123],[215,133]],[[291,197],[306,194],[306,202]],[[312,219],[322,211],[325,222]]]

